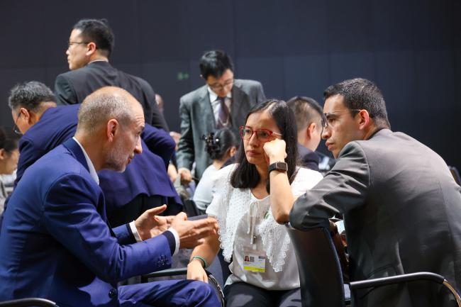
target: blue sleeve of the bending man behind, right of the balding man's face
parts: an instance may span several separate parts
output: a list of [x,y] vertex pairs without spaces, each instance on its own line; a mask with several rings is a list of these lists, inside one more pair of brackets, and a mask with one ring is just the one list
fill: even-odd
[[170,134],[165,130],[146,124],[141,138],[149,150],[161,157],[165,162],[165,167],[168,167],[176,146]]

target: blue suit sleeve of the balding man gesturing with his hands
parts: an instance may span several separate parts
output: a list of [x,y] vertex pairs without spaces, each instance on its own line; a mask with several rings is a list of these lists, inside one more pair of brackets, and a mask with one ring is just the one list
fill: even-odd
[[89,180],[66,174],[48,189],[43,223],[50,234],[96,276],[110,283],[170,267],[170,247],[163,235],[119,244],[96,211],[96,206],[103,210],[104,196]]

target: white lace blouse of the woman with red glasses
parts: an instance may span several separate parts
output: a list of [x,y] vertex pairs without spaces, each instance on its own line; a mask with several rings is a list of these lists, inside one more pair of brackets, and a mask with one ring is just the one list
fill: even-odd
[[[230,277],[226,284],[244,281],[269,290],[288,290],[299,287],[299,274],[294,249],[285,230],[279,225],[270,210],[270,196],[256,199],[250,189],[235,189],[230,185],[230,174],[236,164],[219,170],[213,201],[206,209],[210,216],[216,216],[219,224],[219,240]],[[301,196],[321,179],[319,172],[300,168],[291,191]],[[253,240],[251,240],[251,237]],[[262,252],[265,257],[265,272],[251,272],[243,269],[248,250]]]

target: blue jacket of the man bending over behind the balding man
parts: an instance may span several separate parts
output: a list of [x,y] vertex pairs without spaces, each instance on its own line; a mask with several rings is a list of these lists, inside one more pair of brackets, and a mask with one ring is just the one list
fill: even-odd
[[[19,141],[21,155],[15,185],[30,165],[74,136],[79,106],[49,108],[40,121],[22,136]],[[109,211],[124,206],[139,194],[165,196],[169,199],[168,203],[181,203],[166,170],[174,151],[174,140],[165,130],[151,125],[145,126],[141,137],[143,153],[135,155],[125,172],[99,172],[100,186],[106,196]]]

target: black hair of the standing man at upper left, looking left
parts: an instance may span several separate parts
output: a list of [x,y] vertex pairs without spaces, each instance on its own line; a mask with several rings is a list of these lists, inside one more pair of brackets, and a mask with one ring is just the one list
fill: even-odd
[[113,46],[115,45],[115,36],[107,19],[81,19],[72,27],[74,30],[80,30],[82,39],[85,43],[95,43],[96,49],[100,50],[102,55],[110,57]]

